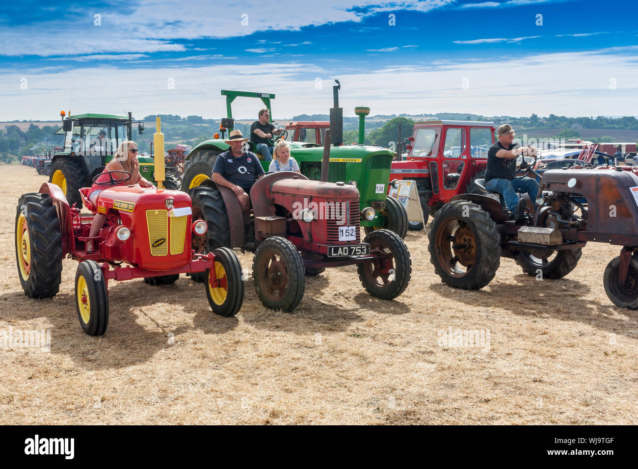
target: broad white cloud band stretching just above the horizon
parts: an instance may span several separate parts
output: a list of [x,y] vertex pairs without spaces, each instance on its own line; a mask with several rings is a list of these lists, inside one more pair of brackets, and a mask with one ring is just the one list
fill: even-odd
[[[171,67],[167,63],[152,73],[147,68],[119,70],[107,66],[79,68],[72,74],[50,67],[29,73],[4,70],[0,75],[0,120],[52,119],[59,113],[60,97],[67,96],[68,100],[71,86],[71,111],[78,113],[121,114],[126,109],[136,117],[223,117],[225,101],[219,90],[246,89],[275,93],[276,119],[302,112],[325,114],[332,107],[332,77],[339,78],[343,85],[340,102],[345,115],[353,115],[358,105],[369,106],[372,114],[446,111],[484,115],[634,115],[637,47],[341,72],[333,66],[265,61],[251,67],[214,61],[201,67]],[[510,72],[503,73],[504,70]],[[512,70],[520,73],[511,73]],[[616,89],[609,89],[610,70],[616,78]],[[22,77],[28,80],[26,90],[20,89]],[[316,89],[316,77],[323,78],[322,89]],[[168,89],[168,78],[174,79],[175,89]],[[462,87],[464,78],[468,79],[468,89]],[[235,100],[233,106],[235,116],[251,119],[260,103]]]

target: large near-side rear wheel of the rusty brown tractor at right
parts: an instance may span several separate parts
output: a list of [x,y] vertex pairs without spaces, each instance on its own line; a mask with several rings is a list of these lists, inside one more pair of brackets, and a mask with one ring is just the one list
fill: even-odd
[[480,205],[467,200],[443,205],[427,237],[430,262],[443,283],[479,290],[494,278],[501,262],[501,236]]

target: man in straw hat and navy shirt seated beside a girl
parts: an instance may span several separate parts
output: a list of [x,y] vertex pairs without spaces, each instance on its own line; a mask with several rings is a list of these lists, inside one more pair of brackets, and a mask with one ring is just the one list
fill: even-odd
[[232,190],[242,211],[246,213],[250,206],[250,188],[255,184],[255,178],[261,177],[264,172],[261,163],[255,153],[244,153],[244,138],[241,130],[234,130],[224,140],[230,148],[219,154],[212,168],[211,179],[218,184]]

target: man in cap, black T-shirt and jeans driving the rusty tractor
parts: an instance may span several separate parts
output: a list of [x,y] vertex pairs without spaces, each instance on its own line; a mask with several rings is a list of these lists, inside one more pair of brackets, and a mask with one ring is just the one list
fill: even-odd
[[516,131],[510,124],[503,124],[497,130],[498,141],[487,151],[487,169],[485,172],[486,189],[499,193],[505,199],[512,218],[521,218],[526,206],[525,200],[516,196],[516,191],[528,193],[531,200],[536,200],[538,182],[531,177],[514,177],[516,158],[522,154],[533,156],[535,147],[517,147],[514,144]]

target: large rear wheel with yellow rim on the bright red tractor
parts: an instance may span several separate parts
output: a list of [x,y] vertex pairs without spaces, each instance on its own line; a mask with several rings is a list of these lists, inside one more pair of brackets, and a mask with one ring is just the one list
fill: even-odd
[[29,298],[55,296],[62,282],[62,235],[48,194],[20,197],[15,216],[15,257],[22,290]]

